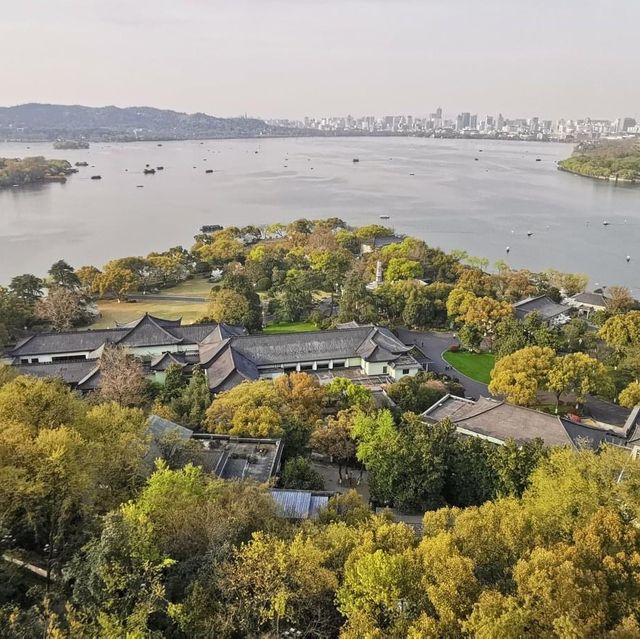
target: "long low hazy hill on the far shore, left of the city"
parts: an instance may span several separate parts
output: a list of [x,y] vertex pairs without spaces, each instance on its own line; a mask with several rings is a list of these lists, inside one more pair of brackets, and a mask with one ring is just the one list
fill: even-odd
[[0,140],[185,140],[274,134],[254,118],[217,118],[152,107],[22,104],[0,107]]

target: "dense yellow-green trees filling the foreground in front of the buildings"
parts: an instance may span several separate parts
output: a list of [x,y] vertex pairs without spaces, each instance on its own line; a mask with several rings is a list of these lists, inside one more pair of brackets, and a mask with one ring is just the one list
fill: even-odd
[[320,416],[310,445],[351,441],[381,485],[421,494],[417,530],[354,491],[292,522],[266,486],[208,475],[177,440],[150,466],[143,410],[0,368],[2,636],[639,636],[628,451],[495,448],[292,377],[272,400],[287,429]]

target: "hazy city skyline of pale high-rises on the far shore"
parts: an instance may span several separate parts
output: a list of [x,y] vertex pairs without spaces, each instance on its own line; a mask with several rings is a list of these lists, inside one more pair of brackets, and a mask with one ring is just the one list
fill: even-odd
[[502,113],[479,116],[470,111],[447,117],[438,107],[427,117],[386,115],[353,117],[305,117],[303,121],[274,120],[270,124],[289,129],[337,134],[428,135],[434,137],[496,137],[531,140],[593,140],[600,137],[640,135],[640,124],[632,117],[614,120],[544,120],[539,117],[507,118]]

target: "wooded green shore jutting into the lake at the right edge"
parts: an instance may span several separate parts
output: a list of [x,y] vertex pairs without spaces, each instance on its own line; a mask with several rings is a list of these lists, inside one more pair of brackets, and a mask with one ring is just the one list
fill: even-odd
[[640,182],[640,140],[605,140],[581,144],[558,163],[560,169],[607,180]]

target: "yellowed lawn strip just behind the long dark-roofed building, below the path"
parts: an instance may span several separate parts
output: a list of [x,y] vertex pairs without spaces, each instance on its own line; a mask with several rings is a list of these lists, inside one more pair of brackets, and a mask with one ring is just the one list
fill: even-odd
[[183,324],[193,324],[206,313],[207,302],[149,300],[145,302],[118,303],[115,300],[100,300],[98,309],[101,317],[90,328],[114,328],[116,324],[126,324],[144,313],[163,319],[178,319],[181,317]]

